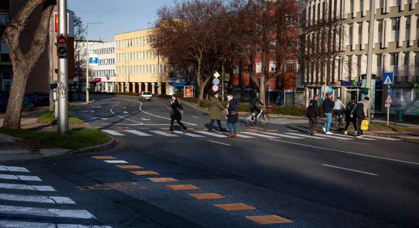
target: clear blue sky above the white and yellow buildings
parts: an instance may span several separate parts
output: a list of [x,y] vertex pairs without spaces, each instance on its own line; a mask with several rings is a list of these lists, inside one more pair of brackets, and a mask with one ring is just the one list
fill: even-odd
[[89,40],[114,40],[114,34],[150,28],[156,12],[171,0],[67,0],[67,8],[89,25]]

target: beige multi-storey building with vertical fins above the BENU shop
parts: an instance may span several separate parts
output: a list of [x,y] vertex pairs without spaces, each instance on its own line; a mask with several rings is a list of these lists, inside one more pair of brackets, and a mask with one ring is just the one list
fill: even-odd
[[[361,75],[366,73],[369,37],[370,1],[328,0],[305,1],[306,28],[316,26],[321,20],[328,20],[332,10],[332,20],[339,21],[333,28],[331,47],[338,53],[333,56],[331,66],[331,86],[335,97],[344,103],[361,97]],[[386,87],[383,87],[383,73],[394,73],[393,104],[390,112],[402,109],[407,114],[419,115],[419,3],[417,0],[375,0],[372,73],[376,75],[376,112],[384,112]],[[320,37],[319,39],[317,37]],[[306,41],[328,41],[327,33],[316,31],[306,34]],[[315,45],[315,44],[312,44]],[[310,48],[306,52],[310,54]],[[320,94],[327,74],[324,62],[311,61],[304,70],[306,104],[313,94]],[[415,83],[416,82],[416,83]]]

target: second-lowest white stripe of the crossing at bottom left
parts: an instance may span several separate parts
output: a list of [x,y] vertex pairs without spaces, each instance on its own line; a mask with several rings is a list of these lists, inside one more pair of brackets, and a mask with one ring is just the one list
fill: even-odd
[[65,218],[96,218],[86,210],[65,210],[40,207],[18,207],[7,205],[0,205],[0,213]]

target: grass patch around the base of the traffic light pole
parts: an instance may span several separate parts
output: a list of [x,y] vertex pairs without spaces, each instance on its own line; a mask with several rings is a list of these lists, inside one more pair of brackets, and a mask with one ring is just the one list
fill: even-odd
[[102,131],[89,128],[74,128],[68,135],[58,135],[56,132],[39,132],[31,130],[0,130],[7,134],[22,138],[25,148],[37,151],[40,148],[80,149],[108,142],[111,138]]

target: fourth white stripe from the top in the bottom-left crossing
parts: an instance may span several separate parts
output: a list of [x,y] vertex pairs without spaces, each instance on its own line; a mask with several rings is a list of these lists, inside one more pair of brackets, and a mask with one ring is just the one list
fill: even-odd
[[76,202],[68,197],[26,196],[16,194],[0,194],[0,200],[47,204],[76,204]]

